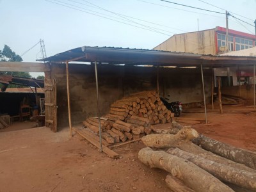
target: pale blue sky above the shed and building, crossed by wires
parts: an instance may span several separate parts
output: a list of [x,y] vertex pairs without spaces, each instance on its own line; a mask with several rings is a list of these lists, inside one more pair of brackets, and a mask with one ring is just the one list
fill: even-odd
[[[6,44],[21,55],[35,45],[36,42],[39,42],[40,38],[44,39],[47,56],[84,45],[152,49],[175,33],[198,31],[198,21],[200,30],[211,29],[216,26],[225,27],[225,15],[195,10],[160,0],[49,1],[0,0],[0,49],[3,49],[4,44]],[[228,10],[233,12],[231,13],[232,15],[249,22],[253,26],[253,22],[256,19],[256,0],[204,0],[206,3],[213,4],[224,10],[203,3],[200,0],[170,1],[221,13],[225,13],[225,10]],[[74,10],[60,5],[64,3],[67,3],[65,4],[66,6],[74,5],[80,8],[73,6],[73,8],[78,9]],[[106,10],[109,12],[106,12]],[[97,15],[103,13],[105,15],[101,15],[102,17],[109,17],[119,22],[85,12]],[[120,17],[118,13],[122,14],[122,16]],[[249,19],[235,15],[235,13]],[[142,20],[163,26],[157,26]],[[239,24],[239,22],[243,25]],[[239,22],[229,17],[229,28],[255,34],[253,26]],[[164,31],[161,31],[161,33],[166,35],[141,29],[147,28],[147,26],[151,27],[150,30],[157,28],[154,30],[161,31],[162,29]],[[35,61],[41,57],[40,44],[22,56],[24,61]]]

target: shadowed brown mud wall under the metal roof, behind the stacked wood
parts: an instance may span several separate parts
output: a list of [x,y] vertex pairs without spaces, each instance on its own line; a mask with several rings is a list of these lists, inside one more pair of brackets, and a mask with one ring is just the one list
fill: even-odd
[[[72,123],[97,116],[97,93],[93,65],[70,64],[70,107]],[[57,81],[58,127],[68,125],[67,81],[64,64],[51,65],[51,77]],[[205,92],[211,97],[211,70],[205,69]],[[110,105],[130,93],[156,90],[156,68],[98,65],[101,115]],[[159,88],[162,97],[183,103],[202,102],[199,68],[160,68]]]

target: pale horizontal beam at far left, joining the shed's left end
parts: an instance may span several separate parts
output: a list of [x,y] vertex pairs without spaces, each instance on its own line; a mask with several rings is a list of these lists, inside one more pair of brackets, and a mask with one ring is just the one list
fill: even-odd
[[4,72],[47,72],[50,70],[50,66],[47,63],[0,61],[0,71]]

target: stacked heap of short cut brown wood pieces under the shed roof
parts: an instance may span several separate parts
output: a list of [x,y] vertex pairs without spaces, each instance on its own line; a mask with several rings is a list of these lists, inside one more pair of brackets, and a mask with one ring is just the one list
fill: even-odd
[[[100,118],[102,139],[109,144],[137,140],[155,130],[152,124],[171,122],[172,116],[156,92],[136,93],[111,104]],[[83,125],[99,135],[98,118],[89,117]]]

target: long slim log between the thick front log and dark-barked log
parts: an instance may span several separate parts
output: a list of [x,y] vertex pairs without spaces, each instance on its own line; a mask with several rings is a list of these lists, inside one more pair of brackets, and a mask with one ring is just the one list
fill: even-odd
[[216,163],[180,150],[179,148],[170,148],[167,150],[167,153],[191,161],[220,180],[256,191],[256,173],[246,172],[244,170],[232,168],[231,166]]

